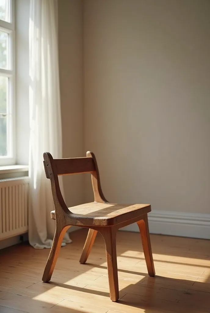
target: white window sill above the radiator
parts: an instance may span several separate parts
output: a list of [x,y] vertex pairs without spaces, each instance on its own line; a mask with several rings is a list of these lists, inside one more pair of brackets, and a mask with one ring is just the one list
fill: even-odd
[[28,176],[28,165],[0,166],[0,179]]

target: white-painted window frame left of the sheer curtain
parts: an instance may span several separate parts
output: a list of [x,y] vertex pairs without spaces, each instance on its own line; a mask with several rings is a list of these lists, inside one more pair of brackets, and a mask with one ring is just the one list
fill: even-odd
[[15,0],[9,0],[10,22],[0,20],[0,30],[9,34],[10,69],[1,69],[0,76],[8,77],[8,103],[11,114],[9,128],[7,129],[7,145],[10,147],[8,156],[0,156],[0,166],[16,163],[15,149]]

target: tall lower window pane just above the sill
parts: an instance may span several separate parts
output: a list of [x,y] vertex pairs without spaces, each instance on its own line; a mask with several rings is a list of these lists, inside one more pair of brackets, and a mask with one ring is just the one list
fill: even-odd
[[0,156],[8,154],[8,78],[0,76]]

